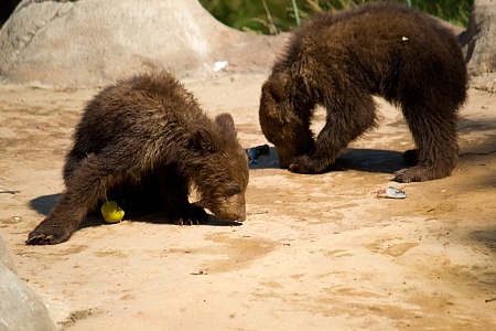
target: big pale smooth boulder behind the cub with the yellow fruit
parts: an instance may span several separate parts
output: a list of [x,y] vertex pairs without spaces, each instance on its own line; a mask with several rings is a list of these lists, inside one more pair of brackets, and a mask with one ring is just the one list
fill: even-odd
[[197,0],[24,0],[0,30],[0,78],[96,85],[143,70],[268,72],[283,40],[230,29]]

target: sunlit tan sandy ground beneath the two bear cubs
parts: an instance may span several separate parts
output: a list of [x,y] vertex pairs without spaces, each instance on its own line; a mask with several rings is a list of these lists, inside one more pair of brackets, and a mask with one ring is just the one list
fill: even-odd
[[[258,125],[263,76],[186,81],[205,110],[234,115],[244,147]],[[496,96],[472,89],[452,177],[390,182],[412,147],[401,114],[341,170],[278,169],[273,148],[250,170],[242,225],[87,220],[55,246],[28,233],[63,190],[82,108],[97,89],[0,86],[0,233],[19,276],[62,330],[494,330]],[[323,114],[316,117],[322,125]],[[378,199],[389,185],[405,200]]]

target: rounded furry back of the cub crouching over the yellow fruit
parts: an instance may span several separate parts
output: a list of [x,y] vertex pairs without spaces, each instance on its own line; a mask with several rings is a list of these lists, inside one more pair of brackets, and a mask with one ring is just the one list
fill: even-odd
[[212,120],[194,96],[169,73],[120,81],[86,106],[75,132],[75,150],[98,152],[117,140],[183,138],[198,124]]

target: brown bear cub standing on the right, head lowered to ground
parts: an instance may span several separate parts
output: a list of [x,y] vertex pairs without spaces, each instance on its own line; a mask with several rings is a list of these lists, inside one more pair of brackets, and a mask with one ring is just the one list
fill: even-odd
[[[399,182],[451,174],[459,157],[457,109],[467,74],[456,36],[435,19],[392,2],[314,17],[296,30],[262,86],[260,125],[281,168],[319,173],[377,126],[373,95],[400,106],[417,149]],[[327,111],[316,139],[316,105]]]

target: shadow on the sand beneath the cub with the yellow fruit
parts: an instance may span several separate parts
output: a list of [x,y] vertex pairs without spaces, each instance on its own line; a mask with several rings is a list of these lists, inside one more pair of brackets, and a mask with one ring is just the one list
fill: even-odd
[[[39,197],[35,197],[30,201],[30,207],[36,212],[39,212],[42,215],[47,216],[50,214],[50,211],[55,206],[55,203],[61,197],[61,193],[57,194],[48,194],[48,195],[42,195]],[[147,223],[155,223],[155,224],[170,224],[175,225],[176,222],[174,220],[170,220],[165,217],[164,215],[160,213],[150,213],[147,215],[140,215],[140,216],[132,216],[130,220],[131,222],[147,222]],[[101,225],[110,225],[110,223],[106,223],[104,221],[104,217],[99,214],[98,211],[91,212],[88,214],[85,220],[79,224],[77,229],[85,228],[85,227],[94,227],[94,226],[101,226]],[[211,225],[211,226],[240,226],[242,223],[235,222],[235,221],[225,221],[217,218],[211,214],[208,214],[207,222],[200,224],[200,225]]]

